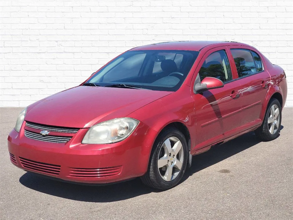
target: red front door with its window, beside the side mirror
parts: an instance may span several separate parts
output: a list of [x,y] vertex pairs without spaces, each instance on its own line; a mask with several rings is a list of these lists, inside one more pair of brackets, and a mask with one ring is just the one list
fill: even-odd
[[195,72],[200,80],[216,77],[224,82],[222,88],[192,94],[196,114],[195,150],[234,135],[240,126],[241,85],[239,81],[233,81],[226,50],[226,47],[209,50]]

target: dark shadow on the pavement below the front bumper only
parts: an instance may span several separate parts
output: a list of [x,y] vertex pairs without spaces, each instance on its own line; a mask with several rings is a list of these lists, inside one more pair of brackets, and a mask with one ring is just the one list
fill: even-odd
[[113,185],[88,186],[51,180],[27,172],[19,182],[42,193],[84,202],[115,202],[154,192],[144,187],[139,178]]

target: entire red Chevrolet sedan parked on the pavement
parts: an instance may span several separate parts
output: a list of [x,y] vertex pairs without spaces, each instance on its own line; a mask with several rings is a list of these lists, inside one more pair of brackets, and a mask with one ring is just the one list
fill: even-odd
[[214,145],[250,131],[277,138],[286,97],[284,70],[249,45],[151,44],[25,108],[8,150],[17,167],[57,180],[169,189]]

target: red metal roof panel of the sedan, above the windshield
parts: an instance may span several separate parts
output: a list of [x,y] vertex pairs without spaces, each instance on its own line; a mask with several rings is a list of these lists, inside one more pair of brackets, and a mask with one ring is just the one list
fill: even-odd
[[227,46],[227,45],[248,46],[247,44],[233,42],[233,41],[174,41],[174,42],[154,43],[154,44],[139,46],[136,48],[132,48],[131,50],[193,50],[193,51],[200,51],[202,48],[205,48],[209,45],[214,45],[214,47]]

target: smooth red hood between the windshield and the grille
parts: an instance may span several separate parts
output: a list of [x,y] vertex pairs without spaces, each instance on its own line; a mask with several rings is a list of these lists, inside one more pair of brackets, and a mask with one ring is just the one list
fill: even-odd
[[35,102],[25,121],[74,128],[89,128],[133,111],[172,92],[147,89],[78,86]]

